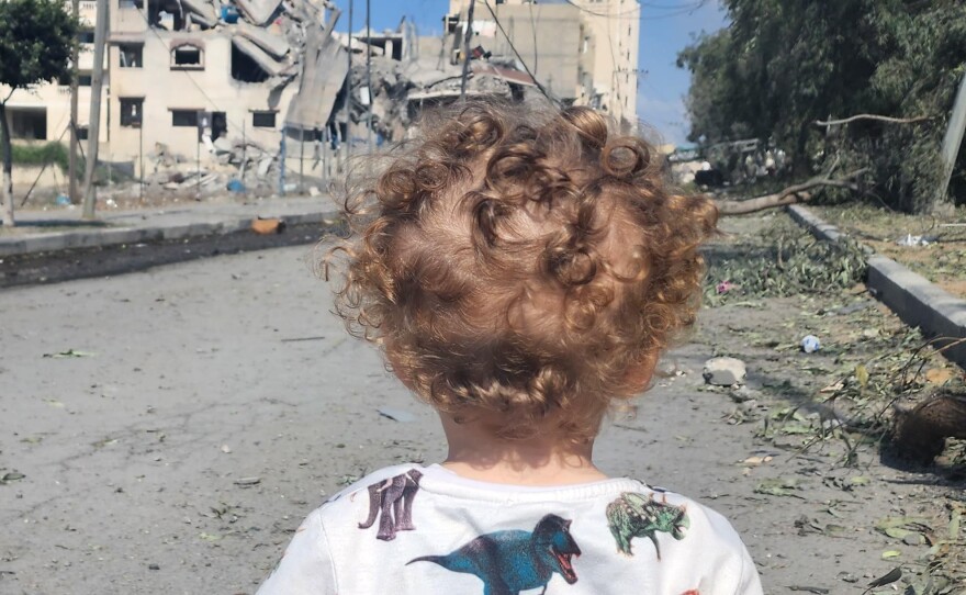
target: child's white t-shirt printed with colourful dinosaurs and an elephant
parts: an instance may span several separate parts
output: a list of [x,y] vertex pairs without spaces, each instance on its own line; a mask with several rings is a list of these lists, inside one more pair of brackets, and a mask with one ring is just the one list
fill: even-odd
[[524,487],[383,469],[302,524],[258,595],[761,595],[724,518],[629,479]]

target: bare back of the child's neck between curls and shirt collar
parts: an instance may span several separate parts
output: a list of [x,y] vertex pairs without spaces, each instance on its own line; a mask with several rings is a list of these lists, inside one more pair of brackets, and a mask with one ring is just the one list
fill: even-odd
[[480,423],[440,418],[449,442],[442,465],[463,478],[515,485],[568,485],[607,478],[592,460],[593,440],[573,444],[547,434],[507,440]]

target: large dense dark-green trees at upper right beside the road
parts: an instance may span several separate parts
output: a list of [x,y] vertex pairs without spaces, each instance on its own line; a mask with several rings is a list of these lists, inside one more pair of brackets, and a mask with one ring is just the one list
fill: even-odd
[[[730,25],[678,55],[678,66],[692,71],[686,104],[693,139],[771,138],[789,153],[800,176],[822,160],[841,160],[849,169],[868,168],[872,190],[896,206],[936,207],[939,147],[966,69],[963,2],[724,4]],[[911,122],[816,125],[861,113]],[[964,183],[961,154],[953,186]]]

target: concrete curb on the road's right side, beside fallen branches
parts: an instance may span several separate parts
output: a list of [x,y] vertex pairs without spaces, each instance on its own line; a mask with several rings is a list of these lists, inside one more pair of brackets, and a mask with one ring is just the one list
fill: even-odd
[[[786,211],[820,239],[840,242],[847,237],[805,206],[795,204]],[[906,324],[918,326],[928,336],[947,339],[936,341],[937,346],[966,338],[966,300],[951,295],[891,258],[876,254],[868,257],[866,287]],[[951,347],[943,355],[966,368],[966,344]]]

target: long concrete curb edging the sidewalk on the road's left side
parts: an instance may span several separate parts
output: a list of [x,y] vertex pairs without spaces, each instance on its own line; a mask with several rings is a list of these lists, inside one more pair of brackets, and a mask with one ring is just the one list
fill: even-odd
[[[311,212],[274,216],[284,220],[289,225],[303,225],[322,223],[326,218],[336,216],[336,214],[330,212]],[[108,227],[83,232],[57,232],[29,237],[0,238],[0,258],[13,255],[56,252],[72,248],[96,248],[122,244],[145,244],[166,239],[227,235],[248,229],[251,226],[252,218],[251,216],[234,216],[215,223],[144,225],[126,228]]]

